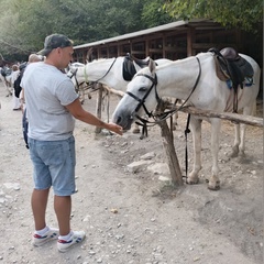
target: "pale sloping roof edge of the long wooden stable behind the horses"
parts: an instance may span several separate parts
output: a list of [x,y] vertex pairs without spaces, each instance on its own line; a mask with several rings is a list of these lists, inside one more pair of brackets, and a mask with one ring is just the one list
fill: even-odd
[[122,40],[129,40],[129,38],[141,36],[141,35],[146,35],[146,34],[151,34],[151,33],[155,33],[155,32],[172,30],[174,28],[178,28],[180,25],[186,25],[186,24],[194,23],[194,22],[206,22],[206,21],[209,21],[209,20],[206,20],[206,19],[191,20],[191,21],[180,20],[180,21],[168,23],[168,24],[151,28],[151,29],[147,29],[147,30],[136,31],[136,32],[128,33],[128,34],[120,35],[120,36],[114,36],[114,37],[110,37],[110,38],[106,38],[106,40],[101,40],[101,41],[97,41],[97,42],[90,42],[90,43],[77,45],[77,46],[74,46],[74,48],[78,50],[78,48],[84,48],[84,47],[106,44],[106,43],[110,43],[110,42],[118,42],[118,41],[122,41]]

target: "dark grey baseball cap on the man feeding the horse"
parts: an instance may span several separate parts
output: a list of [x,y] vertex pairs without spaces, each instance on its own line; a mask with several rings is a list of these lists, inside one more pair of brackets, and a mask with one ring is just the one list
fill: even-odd
[[47,56],[52,52],[52,50],[67,46],[73,46],[72,40],[62,34],[52,34],[46,36],[44,42],[44,48],[40,51],[37,54],[42,56]]

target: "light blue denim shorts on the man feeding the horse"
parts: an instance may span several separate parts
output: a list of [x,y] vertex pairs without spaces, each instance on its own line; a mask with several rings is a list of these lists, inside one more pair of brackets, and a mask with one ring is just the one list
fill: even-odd
[[53,186],[56,196],[75,193],[75,139],[38,141],[29,138],[30,156],[34,167],[35,189]]

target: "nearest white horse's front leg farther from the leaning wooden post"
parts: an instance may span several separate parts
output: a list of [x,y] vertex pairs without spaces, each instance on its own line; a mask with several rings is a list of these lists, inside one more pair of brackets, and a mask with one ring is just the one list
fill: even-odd
[[219,134],[221,129],[221,119],[211,119],[211,155],[212,155],[212,169],[211,177],[209,178],[208,189],[220,189],[218,153],[219,153]]

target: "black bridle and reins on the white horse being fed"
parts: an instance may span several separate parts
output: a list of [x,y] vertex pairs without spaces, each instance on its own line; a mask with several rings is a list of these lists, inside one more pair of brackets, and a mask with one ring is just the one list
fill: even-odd
[[[143,131],[142,131],[142,136],[144,135],[147,135],[147,127],[151,127],[151,125],[155,125],[156,123],[158,122],[162,122],[164,120],[166,120],[167,118],[172,117],[174,113],[176,113],[177,111],[179,111],[185,105],[186,102],[189,100],[190,96],[194,94],[198,82],[199,82],[199,79],[200,79],[200,75],[201,75],[201,65],[200,65],[200,61],[198,57],[196,57],[197,62],[198,62],[198,65],[199,65],[199,73],[198,73],[198,76],[196,78],[196,81],[195,81],[195,85],[189,94],[189,96],[187,97],[187,99],[178,107],[174,107],[173,109],[168,110],[168,111],[164,111],[163,113],[153,113],[153,111],[148,111],[146,106],[145,106],[145,99],[148,97],[148,95],[151,94],[152,89],[155,89],[155,98],[156,98],[156,101],[157,103],[160,103],[162,101],[161,97],[158,96],[157,94],[157,89],[156,89],[156,86],[157,86],[157,76],[156,74],[154,75],[154,77],[150,76],[150,75],[145,75],[145,74],[138,74],[135,75],[136,76],[144,76],[146,78],[148,78],[151,81],[152,81],[152,86],[150,87],[150,89],[146,91],[146,94],[144,95],[144,97],[141,99],[139,97],[136,97],[135,95],[133,95],[132,92],[130,91],[127,91],[127,94],[134,98],[136,101],[139,101],[139,105],[136,106],[135,108],[135,118],[139,119],[141,122],[135,122],[136,124],[139,125],[142,125],[143,127]],[[143,107],[146,116],[148,118],[153,118],[154,119],[154,122],[151,122],[142,117],[140,117],[138,114],[140,108]]]

